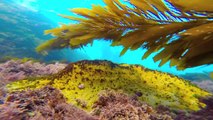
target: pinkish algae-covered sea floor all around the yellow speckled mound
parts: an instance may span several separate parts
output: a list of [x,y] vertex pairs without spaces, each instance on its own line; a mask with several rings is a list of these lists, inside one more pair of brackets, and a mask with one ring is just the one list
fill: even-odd
[[[67,64],[7,61],[0,64],[1,120],[213,120],[213,98],[202,99],[207,106],[199,111],[172,110],[153,107],[138,100],[140,93],[131,96],[117,91],[102,91],[90,112],[67,103],[60,90],[45,86],[36,90],[8,92],[8,83],[28,77],[56,74]],[[194,81],[199,87],[213,92],[210,80]],[[84,106],[84,103],[79,101]]]

